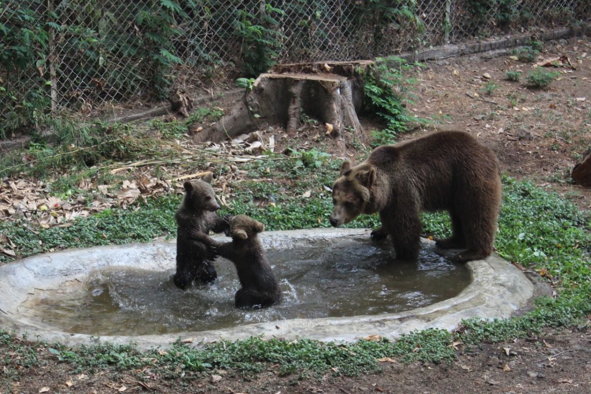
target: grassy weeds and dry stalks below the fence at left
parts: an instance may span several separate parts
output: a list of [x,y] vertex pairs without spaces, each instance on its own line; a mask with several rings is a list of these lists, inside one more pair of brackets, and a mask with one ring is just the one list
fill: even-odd
[[[180,138],[189,126],[203,121],[215,121],[222,116],[217,108],[202,107],[194,110],[184,121],[165,122],[154,119],[148,125],[160,131],[165,138]],[[178,152],[164,145],[161,139],[146,135],[131,123],[82,123],[68,118],[53,118],[52,144],[46,138],[36,137],[27,149],[12,151],[0,157],[0,175],[32,175],[44,177],[50,173],[70,172],[79,179],[101,174],[98,165],[135,160],[145,157],[174,157]],[[56,182],[63,183],[67,177]],[[75,182],[77,183],[77,181]]]

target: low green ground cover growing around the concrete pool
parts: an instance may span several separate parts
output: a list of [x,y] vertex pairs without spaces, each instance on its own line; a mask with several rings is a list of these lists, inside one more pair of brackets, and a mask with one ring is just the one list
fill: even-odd
[[[301,156],[296,155],[293,159],[257,161],[243,167],[250,180],[229,185],[235,196],[232,209],[225,211],[249,214],[265,223],[269,230],[328,227],[332,199],[327,188],[338,174],[340,161],[314,154],[307,164],[304,161],[299,164],[298,160],[301,161]],[[272,178],[274,182],[254,181],[261,178]],[[454,334],[424,330],[397,341],[359,340],[342,345],[305,338],[297,341],[249,338],[207,344],[199,349],[176,343],[166,352],[140,352],[133,346],[108,343],[74,349],[56,344],[51,347],[53,350],[38,350],[34,344],[22,344],[1,331],[2,363],[8,366],[10,373],[18,375],[19,363],[25,369],[34,367],[38,363],[38,352],[47,351],[50,357],[71,363],[77,371],[135,370],[149,364],[168,377],[178,377],[181,372],[191,376],[215,368],[251,376],[271,364],[278,364],[281,375],[322,375],[329,371],[335,375],[354,376],[379,371],[376,359],[381,357],[400,357],[405,362],[449,362],[456,356],[451,345],[458,339],[465,344],[478,345],[483,341],[530,336],[544,327],[578,324],[591,313],[589,216],[556,193],[531,183],[511,178],[504,178],[503,183],[495,242],[499,255],[530,269],[543,270],[553,278],[559,290],[557,299],[542,298],[534,310],[521,317],[494,321],[474,318],[463,322],[462,330]],[[311,191],[310,196],[304,197],[307,191]],[[0,230],[11,237],[23,256],[49,248],[145,242],[174,233],[173,213],[179,202],[180,196],[152,198],[127,210],[112,209],[79,219],[70,228],[39,230],[38,235],[22,225],[0,224]],[[352,227],[377,225],[375,215],[362,216],[351,224]],[[449,216],[445,213],[424,214],[423,225],[427,234],[444,237],[450,233]],[[10,356],[15,353],[9,350],[12,347],[20,349],[17,351],[20,358]]]

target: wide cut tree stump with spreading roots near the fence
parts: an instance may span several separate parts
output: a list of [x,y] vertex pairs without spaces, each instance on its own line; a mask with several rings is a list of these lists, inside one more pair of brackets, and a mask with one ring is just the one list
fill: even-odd
[[196,133],[193,140],[217,142],[268,126],[293,132],[305,114],[326,123],[344,152],[345,133],[365,142],[357,113],[363,101],[362,73],[373,63],[361,60],[275,66],[261,74],[252,90],[222,119]]

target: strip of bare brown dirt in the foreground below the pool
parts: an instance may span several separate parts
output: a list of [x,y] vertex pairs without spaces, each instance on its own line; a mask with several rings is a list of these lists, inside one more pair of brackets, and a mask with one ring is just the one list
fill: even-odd
[[[591,392],[591,321],[577,330],[545,331],[510,343],[459,346],[450,364],[382,363],[383,372],[359,377],[297,379],[277,376],[273,367],[254,379],[215,371],[197,379],[165,379],[150,369],[122,373],[79,374],[47,350],[48,364],[24,372],[15,393],[502,393]],[[217,377],[212,378],[213,375]],[[221,377],[221,379],[219,379]],[[218,380],[219,379],[219,380]],[[214,383],[213,380],[216,380]],[[47,390],[48,389],[48,390]],[[46,391],[40,391],[46,390]]]

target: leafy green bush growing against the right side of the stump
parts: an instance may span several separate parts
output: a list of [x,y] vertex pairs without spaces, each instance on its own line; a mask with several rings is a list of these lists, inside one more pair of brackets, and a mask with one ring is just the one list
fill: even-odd
[[364,110],[385,121],[385,128],[374,132],[372,145],[394,142],[398,133],[407,131],[408,123],[421,121],[406,109],[407,104],[413,103],[410,90],[416,80],[406,77],[404,71],[412,68],[399,57],[378,58],[375,66],[363,74]]

